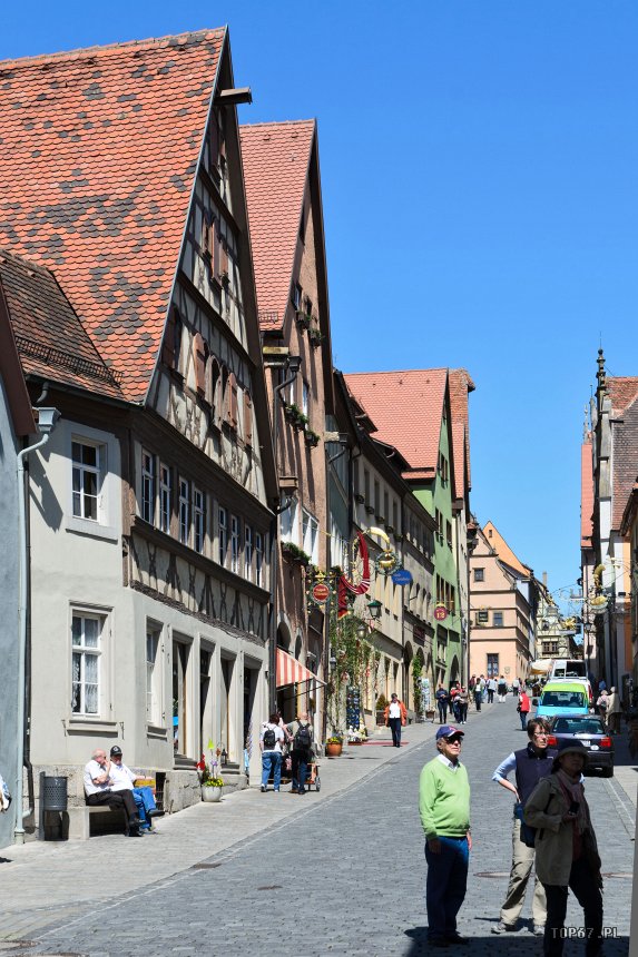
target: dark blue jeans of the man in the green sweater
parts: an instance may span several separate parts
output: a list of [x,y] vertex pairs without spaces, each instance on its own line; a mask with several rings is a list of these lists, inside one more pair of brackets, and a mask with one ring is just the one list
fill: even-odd
[[468,838],[439,838],[441,854],[432,854],[425,843],[428,882],[428,939],[453,937],[457,933],[457,914],[465,898],[470,850]]

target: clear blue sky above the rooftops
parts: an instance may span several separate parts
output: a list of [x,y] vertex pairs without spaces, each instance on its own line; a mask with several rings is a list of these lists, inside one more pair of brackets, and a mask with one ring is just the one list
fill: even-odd
[[465,366],[472,506],[550,589],[579,565],[602,342],[638,374],[631,0],[11,4],[0,56],[228,23],[241,120],[317,117],[335,364]]

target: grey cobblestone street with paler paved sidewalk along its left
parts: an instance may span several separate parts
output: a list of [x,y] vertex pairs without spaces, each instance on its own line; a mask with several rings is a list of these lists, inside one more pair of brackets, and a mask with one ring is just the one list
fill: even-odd
[[[472,941],[463,949],[536,957],[541,947],[529,933],[529,901],[517,934],[503,940],[490,933],[511,854],[511,801],[490,778],[527,740],[513,700],[471,713],[464,730],[474,849],[459,926]],[[0,869],[0,939],[7,941],[0,950],[104,957],[426,954],[416,790],[422,764],[435,753],[434,731],[432,724],[408,729],[401,751],[365,746],[352,749],[350,760],[324,761],[320,795],[251,790],[165,818],[157,836],[138,841],[114,836],[53,851],[17,849],[22,856],[4,851],[12,864]],[[628,953],[635,778],[624,767],[615,779],[588,778],[586,785],[608,875],[605,924],[618,935],[607,957]],[[580,920],[570,897],[567,923],[579,927]],[[567,943],[566,957],[581,953],[582,941]]]

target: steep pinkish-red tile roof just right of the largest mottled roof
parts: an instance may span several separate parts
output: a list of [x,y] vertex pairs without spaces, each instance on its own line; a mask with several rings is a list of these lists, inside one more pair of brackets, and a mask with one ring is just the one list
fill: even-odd
[[242,126],[242,161],[259,325],[279,329],[291,278],[315,120]]

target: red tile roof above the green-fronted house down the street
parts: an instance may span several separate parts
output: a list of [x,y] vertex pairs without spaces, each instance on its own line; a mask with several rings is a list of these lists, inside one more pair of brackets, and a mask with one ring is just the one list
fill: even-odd
[[377,428],[377,438],[394,445],[418,474],[432,478],[439,463],[446,368],[364,372],[345,375],[349,389]]

